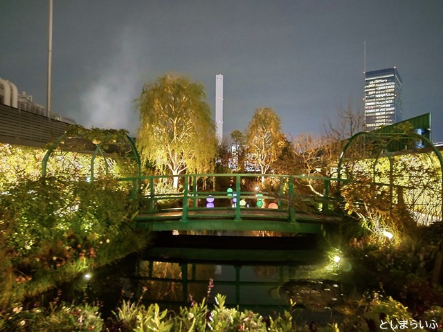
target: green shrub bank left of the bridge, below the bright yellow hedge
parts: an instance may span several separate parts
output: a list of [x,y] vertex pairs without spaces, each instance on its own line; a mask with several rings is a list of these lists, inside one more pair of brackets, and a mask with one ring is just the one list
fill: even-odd
[[24,179],[0,201],[0,301],[33,297],[78,273],[141,250],[136,206],[116,181]]

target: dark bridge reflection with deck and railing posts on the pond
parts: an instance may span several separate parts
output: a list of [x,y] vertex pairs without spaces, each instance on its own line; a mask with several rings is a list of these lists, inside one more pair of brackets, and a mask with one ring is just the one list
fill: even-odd
[[323,277],[318,274],[323,255],[314,235],[197,238],[159,233],[154,246],[140,255],[132,279],[136,293],[145,286],[146,302],[174,308],[189,304],[190,297],[200,302],[213,279],[210,304],[221,293],[228,306],[271,313],[289,308],[289,300],[279,293],[282,285]]

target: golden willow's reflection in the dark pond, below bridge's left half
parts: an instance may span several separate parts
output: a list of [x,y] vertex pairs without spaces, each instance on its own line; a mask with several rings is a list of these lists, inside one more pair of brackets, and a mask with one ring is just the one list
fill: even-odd
[[[195,265],[187,264],[186,273],[188,275],[188,294],[192,299],[200,302],[206,297],[208,292],[208,282],[213,278],[215,266],[213,265]],[[183,299],[183,271],[178,263],[164,261],[141,261],[138,266],[138,275],[141,277],[153,277],[164,280],[143,280],[138,284],[141,290],[144,286],[147,288],[143,298],[152,301],[184,302]],[[198,280],[198,283],[189,282]]]

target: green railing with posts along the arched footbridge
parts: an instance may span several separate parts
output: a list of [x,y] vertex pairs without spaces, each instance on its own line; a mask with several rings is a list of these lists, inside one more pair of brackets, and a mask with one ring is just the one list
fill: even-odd
[[[179,190],[172,188],[179,178]],[[337,209],[339,183],[318,176],[264,174],[182,174],[122,178],[132,183],[131,196],[140,199],[145,219],[165,219],[172,214],[181,221],[201,216],[241,221],[271,213],[273,218],[296,222],[298,212],[333,214]],[[167,214],[169,212],[169,214]],[[155,215],[154,215],[155,214]]]

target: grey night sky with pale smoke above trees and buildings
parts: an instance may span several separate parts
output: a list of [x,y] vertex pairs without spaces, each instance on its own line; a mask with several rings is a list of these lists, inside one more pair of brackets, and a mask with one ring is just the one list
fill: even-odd
[[[284,133],[323,133],[363,106],[363,71],[396,66],[404,119],[431,113],[443,141],[442,0],[53,0],[52,111],[134,134],[143,84],[178,73],[204,84],[224,135],[260,107]],[[0,77],[46,105],[48,1],[0,0]]]

